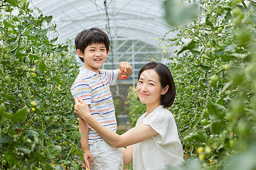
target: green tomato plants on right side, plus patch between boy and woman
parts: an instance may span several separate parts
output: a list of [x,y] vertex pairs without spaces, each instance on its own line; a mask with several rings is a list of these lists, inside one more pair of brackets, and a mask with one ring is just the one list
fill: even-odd
[[[184,167],[256,169],[255,1],[166,1],[177,36],[157,38],[179,47],[168,67],[176,83],[174,114]],[[195,11],[196,10],[196,11]],[[131,125],[145,107],[134,88],[127,97]]]

